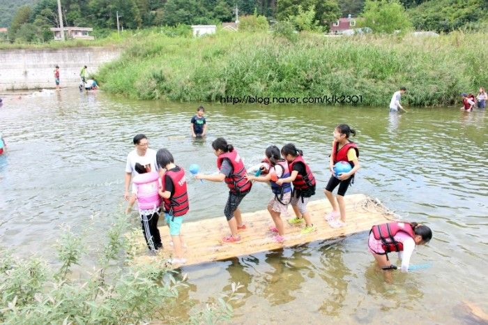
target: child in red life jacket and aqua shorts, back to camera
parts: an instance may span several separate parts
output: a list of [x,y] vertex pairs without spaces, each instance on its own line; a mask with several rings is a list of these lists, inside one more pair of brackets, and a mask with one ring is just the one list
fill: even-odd
[[156,162],[160,169],[162,184],[159,195],[165,205],[165,219],[174,246],[174,258],[170,259],[169,262],[171,264],[185,264],[181,224],[183,223],[183,216],[190,209],[185,170],[174,165],[173,155],[167,149],[158,150]]

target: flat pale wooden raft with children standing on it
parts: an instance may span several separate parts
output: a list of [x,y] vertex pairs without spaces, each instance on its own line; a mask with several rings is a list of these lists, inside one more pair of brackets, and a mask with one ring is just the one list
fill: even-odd
[[[293,209],[289,206],[289,216],[282,216],[284,222],[285,241],[277,243],[273,240],[274,233],[269,227],[274,225],[267,210],[260,210],[252,213],[243,213],[243,222],[247,229],[239,232],[241,241],[238,243],[223,243],[222,237],[230,234],[227,220],[224,216],[220,218],[208,218],[193,222],[183,221],[182,234],[187,248],[184,249],[184,257],[187,259],[185,266],[213,262],[230,257],[250,255],[255,252],[266,252],[277,250],[283,247],[291,247],[312,241],[324,241],[337,237],[365,232],[373,225],[379,225],[393,219],[378,200],[370,199],[366,195],[355,194],[344,197],[346,200],[346,226],[332,228],[325,220],[326,213],[330,212],[330,204],[326,199],[312,201],[307,204],[307,210],[312,215],[312,222],[317,231],[302,235],[300,230],[305,222],[298,225],[290,225],[288,218],[295,216]],[[135,263],[146,264],[151,262],[162,262],[171,257],[173,248],[169,245],[169,227],[159,227],[164,249],[155,256],[137,256]],[[144,241],[142,236],[141,241]],[[145,245],[145,243],[144,243]],[[169,267],[178,267],[174,265]]]

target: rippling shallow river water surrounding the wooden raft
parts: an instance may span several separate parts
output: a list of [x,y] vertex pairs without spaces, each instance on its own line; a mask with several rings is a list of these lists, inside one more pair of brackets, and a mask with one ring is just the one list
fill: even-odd
[[[485,113],[456,107],[411,108],[406,114],[374,107],[206,106],[208,139],[191,139],[199,103],[158,103],[105,93],[8,98],[0,109],[8,153],[0,156],[0,245],[17,255],[54,261],[61,224],[86,236],[92,248],[121,211],[123,174],[132,137],[145,133],[153,149],[166,147],[179,165],[214,172],[211,142],[223,136],[247,165],[270,144],[303,149],[318,179],[314,199],[330,174],[333,128],[358,130],[362,169],[348,193],[378,197],[404,220],[425,222],[434,238],[414,253],[429,269],[395,273],[383,282],[367,252],[367,233],[310,243],[231,261],[184,267],[189,287],[171,314],[244,285],[234,304],[236,324],[475,324],[463,306],[488,312],[488,176]],[[188,181],[185,220],[223,218],[223,184]],[[264,185],[253,187],[242,211],[266,208]],[[264,199],[263,197],[266,197]],[[322,216],[314,216],[322,218]],[[94,230],[84,232],[87,225]],[[167,240],[167,239],[166,239]],[[396,257],[393,255],[393,261]]]

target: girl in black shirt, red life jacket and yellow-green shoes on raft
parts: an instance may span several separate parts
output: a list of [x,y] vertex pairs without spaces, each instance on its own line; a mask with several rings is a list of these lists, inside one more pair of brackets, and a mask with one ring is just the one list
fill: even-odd
[[302,229],[301,234],[310,234],[317,229],[312,224],[312,218],[307,211],[307,203],[310,197],[315,195],[314,175],[303,160],[303,152],[296,149],[294,144],[285,144],[281,149],[281,154],[288,162],[290,176],[285,179],[278,179],[276,183],[278,186],[282,186],[283,183],[293,183],[290,203],[293,211],[295,211],[295,218],[289,219],[288,222],[295,225],[305,220],[305,228]]

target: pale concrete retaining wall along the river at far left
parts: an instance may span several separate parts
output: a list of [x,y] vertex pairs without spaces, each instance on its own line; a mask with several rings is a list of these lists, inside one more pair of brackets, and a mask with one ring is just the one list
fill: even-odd
[[89,74],[95,73],[102,63],[118,58],[120,53],[112,47],[0,50],[0,91],[54,88],[56,64],[60,86],[77,87],[82,66],[88,66]]

